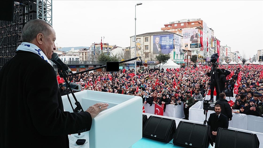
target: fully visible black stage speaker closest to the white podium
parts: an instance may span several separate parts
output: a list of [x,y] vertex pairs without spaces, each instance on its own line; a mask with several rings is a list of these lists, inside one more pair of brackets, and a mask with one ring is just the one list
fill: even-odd
[[173,139],[175,131],[175,120],[150,116],[142,129],[142,136],[168,143]]

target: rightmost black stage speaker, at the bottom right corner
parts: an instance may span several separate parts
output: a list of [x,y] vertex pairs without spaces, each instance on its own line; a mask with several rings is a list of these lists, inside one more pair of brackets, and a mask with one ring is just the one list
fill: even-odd
[[215,148],[258,148],[257,134],[218,128]]

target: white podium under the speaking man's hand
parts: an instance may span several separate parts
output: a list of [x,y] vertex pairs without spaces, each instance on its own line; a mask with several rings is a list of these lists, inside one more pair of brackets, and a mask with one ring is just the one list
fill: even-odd
[[[74,94],[84,111],[99,102],[109,104],[93,119],[91,130],[83,132],[89,134],[89,142],[83,147],[129,148],[142,138],[142,97],[93,90]],[[69,97],[75,108],[74,98],[71,94]],[[62,96],[62,101],[65,111],[73,112],[67,95]]]

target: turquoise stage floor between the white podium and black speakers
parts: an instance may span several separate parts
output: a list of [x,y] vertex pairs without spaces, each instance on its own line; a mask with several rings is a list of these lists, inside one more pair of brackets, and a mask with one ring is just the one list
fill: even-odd
[[[214,145],[215,146],[215,145]],[[142,137],[138,142],[132,145],[132,148],[181,148],[181,146],[176,146],[173,144],[173,139],[169,143],[164,143],[149,138]],[[209,145],[209,148],[212,148]]]

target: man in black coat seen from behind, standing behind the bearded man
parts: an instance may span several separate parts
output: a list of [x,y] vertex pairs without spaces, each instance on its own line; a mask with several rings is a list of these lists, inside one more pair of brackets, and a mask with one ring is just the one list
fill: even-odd
[[216,104],[219,104],[221,106],[221,113],[227,117],[227,121],[232,120],[232,109],[230,105],[228,104],[228,101],[226,100],[226,94],[220,93],[219,94],[220,99],[216,101]]

